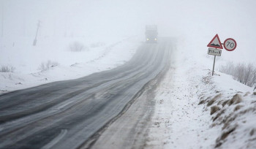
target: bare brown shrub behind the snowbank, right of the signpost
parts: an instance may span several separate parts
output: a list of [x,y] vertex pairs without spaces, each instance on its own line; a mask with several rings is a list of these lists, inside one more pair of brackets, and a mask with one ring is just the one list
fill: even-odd
[[228,75],[232,75],[233,78],[240,83],[248,85],[250,87],[256,86],[256,64],[233,64],[232,62],[227,63],[225,66],[221,66],[219,69]]

